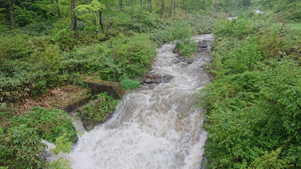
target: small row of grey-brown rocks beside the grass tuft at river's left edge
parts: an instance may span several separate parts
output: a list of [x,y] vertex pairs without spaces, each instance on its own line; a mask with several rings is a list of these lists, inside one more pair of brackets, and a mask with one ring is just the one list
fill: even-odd
[[139,80],[140,84],[147,85],[151,83],[168,83],[174,77],[172,75],[156,75],[156,74],[147,74],[143,79]]

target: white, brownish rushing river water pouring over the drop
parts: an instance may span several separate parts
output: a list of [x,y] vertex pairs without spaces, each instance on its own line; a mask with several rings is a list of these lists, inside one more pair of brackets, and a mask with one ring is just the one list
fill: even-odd
[[174,64],[173,48],[164,44],[157,50],[152,72],[174,79],[127,92],[110,120],[85,132],[70,154],[50,158],[64,157],[73,169],[200,168],[206,131],[202,111],[191,108],[191,94],[209,83],[200,68],[209,59],[199,53],[188,66]]

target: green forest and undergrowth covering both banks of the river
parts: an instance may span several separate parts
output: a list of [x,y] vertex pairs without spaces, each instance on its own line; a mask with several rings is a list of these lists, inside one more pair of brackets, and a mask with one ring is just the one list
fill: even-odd
[[0,0],[0,169],[71,168],[41,156],[42,139],[55,155],[78,140],[64,106],[101,98],[99,122],[120,102],[86,80],[139,88],[163,43],[189,58],[209,33],[202,166],[301,168],[300,0]]

